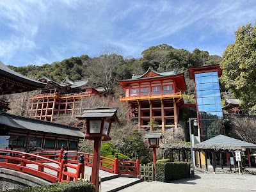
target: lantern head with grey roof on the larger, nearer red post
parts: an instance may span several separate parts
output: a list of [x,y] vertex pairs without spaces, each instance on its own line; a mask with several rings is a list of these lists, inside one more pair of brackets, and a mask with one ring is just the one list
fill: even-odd
[[86,120],[85,138],[88,140],[111,140],[109,132],[112,122],[119,122],[117,118],[118,108],[86,108],[83,115],[77,117]]

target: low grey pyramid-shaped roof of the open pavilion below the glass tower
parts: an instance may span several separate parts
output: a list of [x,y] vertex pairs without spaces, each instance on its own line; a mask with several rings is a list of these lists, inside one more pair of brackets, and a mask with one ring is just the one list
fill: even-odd
[[196,146],[200,146],[200,145],[234,145],[237,147],[256,148],[256,145],[253,143],[237,140],[221,134],[214,138],[211,138],[209,140],[196,144]]

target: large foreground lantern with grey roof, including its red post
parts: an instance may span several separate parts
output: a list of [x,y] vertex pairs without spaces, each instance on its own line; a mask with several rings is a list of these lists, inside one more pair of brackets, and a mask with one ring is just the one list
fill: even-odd
[[86,120],[87,140],[94,141],[92,177],[91,182],[95,185],[95,192],[99,191],[99,164],[100,164],[100,145],[101,141],[109,141],[109,132],[112,122],[118,122],[116,116],[118,108],[91,108],[84,109],[83,115],[79,119]]

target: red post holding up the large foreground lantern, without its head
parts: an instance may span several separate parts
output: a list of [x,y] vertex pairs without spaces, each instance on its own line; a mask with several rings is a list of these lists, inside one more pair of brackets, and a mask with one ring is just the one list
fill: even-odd
[[91,181],[92,181],[92,184],[95,185],[95,192],[99,191],[100,144],[101,144],[100,138],[98,138],[97,140],[94,140]]

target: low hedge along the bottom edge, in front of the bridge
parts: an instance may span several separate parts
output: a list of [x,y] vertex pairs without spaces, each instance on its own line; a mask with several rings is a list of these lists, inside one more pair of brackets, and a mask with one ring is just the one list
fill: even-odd
[[49,186],[37,186],[24,189],[10,189],[8,192],[93,192],[95,186],[86,181],[56,182]]

